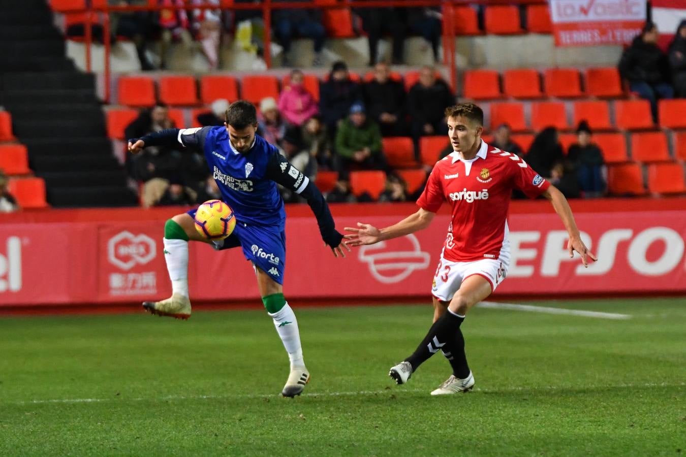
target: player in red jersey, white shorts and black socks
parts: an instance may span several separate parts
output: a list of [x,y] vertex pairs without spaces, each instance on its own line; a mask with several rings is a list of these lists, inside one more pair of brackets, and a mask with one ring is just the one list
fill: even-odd
[[451,206],[452,221],[431,289],[434,325],[414,353],[390,369],[397,384],[404,384],[429,357],[442,350],[453,374],[431,395],[469,391],[474,376],[464,354],[460,325],[469,309],[495,291],[510,263],[507,214],[512,189],[528,197],[543,195],[562,219],[569,242],[569,256],[577,251],[584,267],[597,260],[581,240],[567,199],[524,160],[481,139],[484,112],[473,103],[452,106],[445,112],[453,152],[434,166],[417,205],[419,210],[381,230],[369,224],[347,227],[347,245],[372,245],[405,236],[429,226],[444,201]]

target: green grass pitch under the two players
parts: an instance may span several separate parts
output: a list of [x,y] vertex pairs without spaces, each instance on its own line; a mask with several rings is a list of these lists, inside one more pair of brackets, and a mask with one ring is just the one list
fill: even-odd
[[686,452],[686,299],[548,301],[627,320],[475,308],[475,391],[429,392],[437,354],[388,369],[422,306],[298,308],[312,380],[279,396],[287,357],[259,310],[0,319],[2,456],[678,455]]

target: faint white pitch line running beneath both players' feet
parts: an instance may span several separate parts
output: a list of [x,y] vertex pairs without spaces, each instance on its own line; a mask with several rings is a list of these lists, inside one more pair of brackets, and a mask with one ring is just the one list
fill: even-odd
[[[525,392],[525,391],[569,391],[570,389],[580,390],[600,390],[606,388],[650,388],[650,387],[683,387],[686,382],[647,382],[640,384],[580,384],[579,386],[510,386],[505,388],[475,388],[475,392],[482,393],[508,393],[508,392]],[[308,392],[307,397],[347,397],[355,395],[379,395],[382,393],[403,394],[403,393],[428,393],[427,389],[420,388],[386,388],[381,391],[356,391],[356,392]],[[39,404],[77,404],[77,403],[104,403],[104,402],[162,402],[167,400],[220,400],[232,398],[258,399],[258,398],[281,398],[279,394],[236,394],[236,395],[169,395],[167,397],[111,397],[111,398],[58,398],[45,400],[29,400],[27,402],[5,402],[5,404],[15,405],[39,405]],[[2,404],[2,402],[0,402]]]

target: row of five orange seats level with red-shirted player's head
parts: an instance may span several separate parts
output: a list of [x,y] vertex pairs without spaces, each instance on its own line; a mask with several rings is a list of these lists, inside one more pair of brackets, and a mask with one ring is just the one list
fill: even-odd
[[[612,104],[610,104],[612,103]],[[593,130],[645,130],[654,129],[650,103],[643,99],[583,100],[572,103],[571,123],[567,116],[567,106],[562,101],[541,101],[528,103],[530,106],[530,125],[526,121],[525,104],[519,101],[493,102],[488,106],[486,127],[495,129],[506,123],[513,132],[539,131],[545,127],[574,129],[585,120]],[[614,123],[611,121],[611,106],[614,108]],[[670,129],[685,129],[686,99],[659,101],[659,126]]]

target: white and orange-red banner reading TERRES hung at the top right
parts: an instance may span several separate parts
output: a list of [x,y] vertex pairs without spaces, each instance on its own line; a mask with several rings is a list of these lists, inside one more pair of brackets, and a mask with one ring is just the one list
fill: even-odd
[[556,46],[628,45],[646,22],[645,0],[550,0]]

